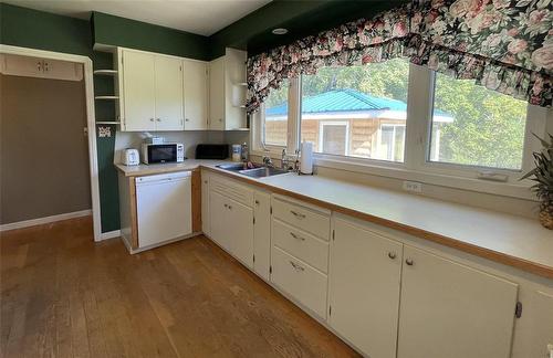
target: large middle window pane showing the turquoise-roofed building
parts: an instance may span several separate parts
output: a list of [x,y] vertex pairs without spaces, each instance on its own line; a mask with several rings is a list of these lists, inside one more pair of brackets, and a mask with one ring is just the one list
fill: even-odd
[[301,140],[324,155],[403,161],[408,77],[403,59],[302,76]]

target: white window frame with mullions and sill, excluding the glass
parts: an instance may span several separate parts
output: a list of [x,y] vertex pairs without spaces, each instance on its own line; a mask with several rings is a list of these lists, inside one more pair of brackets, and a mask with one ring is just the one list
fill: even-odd
[[[528,105],[521,170],[436,162],[429,160],[434,88],[435,72],[409,64],[403,162],[314,152],[314,165],[455,189],[533,199],[532,193],[528,190],[532,182],[530,180],[520,181],[519,179],[533,167],[532,152],[541,149],[541,144],[533,134],[543,137],[547,133],[547,126],[553,128],[553,110]],[[301,78],[291,78],[288,114],[289,133],[285,147],[264,146],[260,140],[262,138],[262,123],[264,123],[262,118],[264,107],[262,106],[253,115],[251,130],[252,155],[280,159],[283,148],[286,149],[289,155],[299,149],[301,143]],[[507,181],[484,180],[478,178],[479,172],[493,172],[498,176],[505,176]]]

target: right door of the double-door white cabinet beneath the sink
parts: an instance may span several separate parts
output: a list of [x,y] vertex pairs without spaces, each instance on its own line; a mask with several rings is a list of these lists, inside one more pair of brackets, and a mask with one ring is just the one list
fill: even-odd
[[231,253],[248,267],[253,267],[253,210],[232,199],[228,200],[228,231]]

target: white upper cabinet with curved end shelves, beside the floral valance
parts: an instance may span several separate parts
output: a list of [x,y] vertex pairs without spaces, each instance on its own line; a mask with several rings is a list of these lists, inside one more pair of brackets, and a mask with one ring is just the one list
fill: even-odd
[[227,49],[225,56],[209,63],[209,129],[246,129],[247,53]]

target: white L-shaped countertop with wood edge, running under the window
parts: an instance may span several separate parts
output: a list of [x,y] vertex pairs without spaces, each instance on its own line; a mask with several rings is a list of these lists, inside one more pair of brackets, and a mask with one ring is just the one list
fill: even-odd
[[288,173],[253,179],[217,168],[221,162],[188,159],[184,164],[117,168],[125,176],[143,176],[205,167],[553,278],[553,231],[541,227],[538,220],[320,176]]

